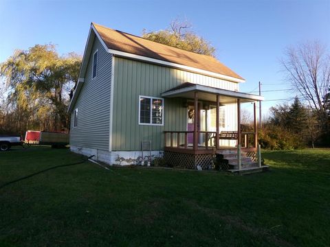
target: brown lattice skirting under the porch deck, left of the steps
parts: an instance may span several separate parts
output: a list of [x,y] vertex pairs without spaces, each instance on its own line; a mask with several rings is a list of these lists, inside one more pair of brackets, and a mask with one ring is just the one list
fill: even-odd
[[200,165],[201,169],[213,169],[214,157],[215,154],[164,152],[164,160],[169,167],[182,167],[186,169],[197,169],[197,165]]

